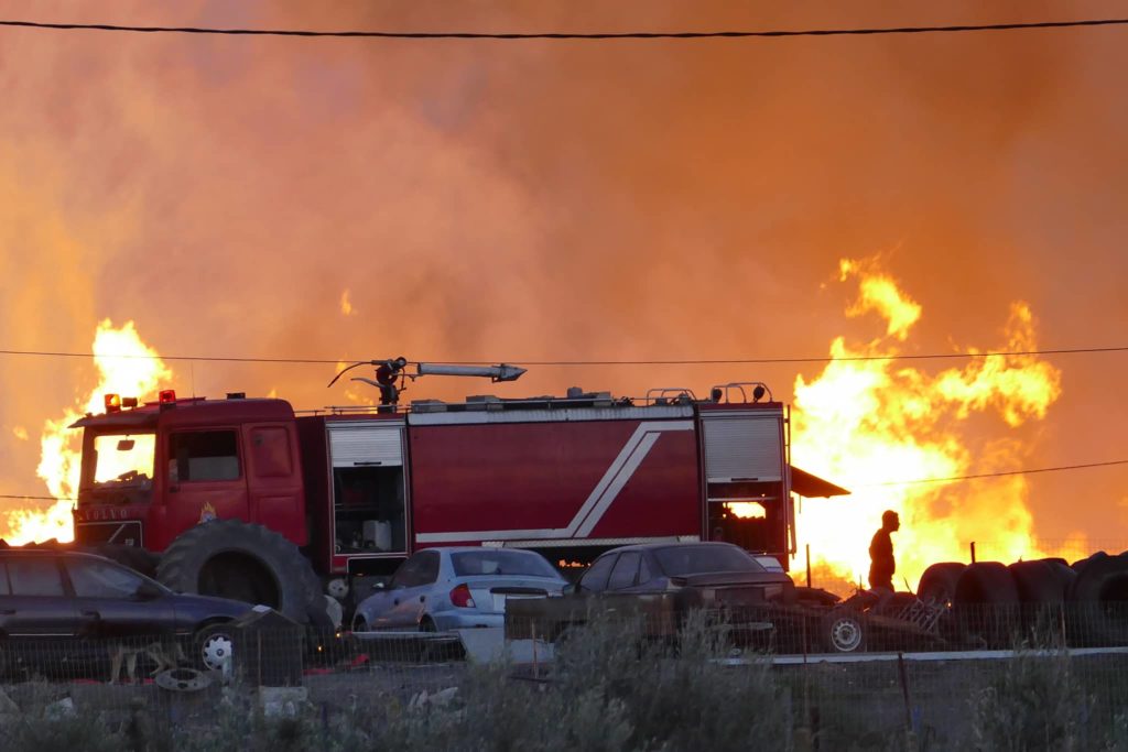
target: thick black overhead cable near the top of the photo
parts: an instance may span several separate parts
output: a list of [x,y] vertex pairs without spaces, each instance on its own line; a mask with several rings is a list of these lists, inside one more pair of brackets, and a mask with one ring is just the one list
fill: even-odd
[[215,34],[230,36],[290,36],[312,38],[374,39],[735,39],[787,38],[800,36],[874,36],[879,34],[951,34],[967,32],[1016,32],[1095,26],[1123,26],[1128,18],[1085,18],[1011,24],[953,24],[943,26],[879,26],[863,28],[808,28],[715,32],[385,32],[317,30],[282,28],[212,28],[203,26],[132,26],[120,24],[55,24],[0,20],[0,26],[50,30],[130,32],[139,34]]

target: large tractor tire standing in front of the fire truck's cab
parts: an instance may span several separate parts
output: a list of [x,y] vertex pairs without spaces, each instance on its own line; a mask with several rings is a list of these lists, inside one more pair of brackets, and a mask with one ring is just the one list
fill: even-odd
[[157,580],[182,593],[262,603],[299,623],[316,604],[320,583],[298,547],[263,525],[213,520],[174,540]]

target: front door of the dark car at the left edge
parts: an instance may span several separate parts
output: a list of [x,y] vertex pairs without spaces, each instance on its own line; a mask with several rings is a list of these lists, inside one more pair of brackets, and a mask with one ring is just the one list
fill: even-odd
[[146,578],[113,561],[87,557],[63,559],[78,634],[103,639],[153,637],[171,632],[176,613],[168,598],[149,594]]

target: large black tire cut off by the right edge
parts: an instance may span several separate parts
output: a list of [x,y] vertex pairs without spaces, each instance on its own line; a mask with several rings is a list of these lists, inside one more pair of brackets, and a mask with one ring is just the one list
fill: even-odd
[[1070,634],[1089,645],[1128,645],[1128,556],[1089,557],[1066,598]]

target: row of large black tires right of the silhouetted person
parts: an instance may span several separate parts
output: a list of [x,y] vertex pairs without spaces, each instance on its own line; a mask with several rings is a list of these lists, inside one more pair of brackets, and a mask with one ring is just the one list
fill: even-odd
[[1073,565],[944,561],[925,570],[917,595],[948,608],[950,636],[969,647],[1128,645],[1128,551]]

